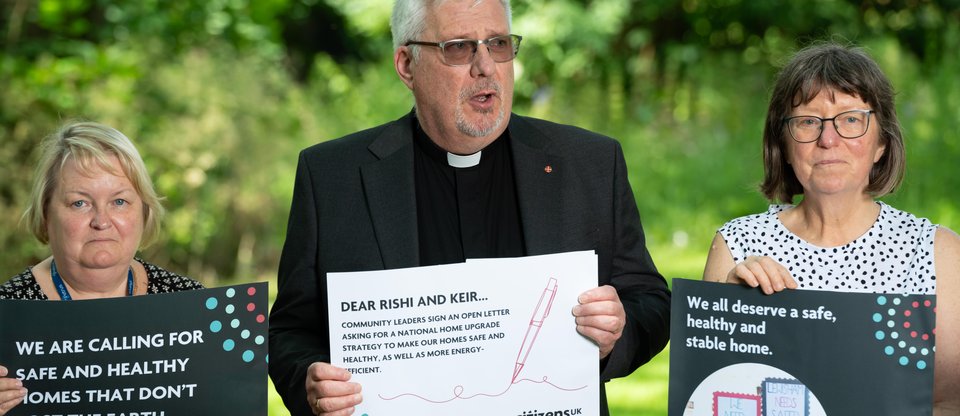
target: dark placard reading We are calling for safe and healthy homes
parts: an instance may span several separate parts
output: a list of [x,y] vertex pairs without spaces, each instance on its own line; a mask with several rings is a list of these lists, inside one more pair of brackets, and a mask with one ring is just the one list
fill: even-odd
[[265,415],[267,289],[0,300],[0,363],[29,390],[7,415]]

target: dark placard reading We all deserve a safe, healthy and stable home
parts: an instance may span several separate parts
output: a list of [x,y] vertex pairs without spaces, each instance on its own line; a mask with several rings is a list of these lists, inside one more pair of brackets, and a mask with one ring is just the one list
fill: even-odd
[[[935,308],[933,295],[674,279],[668,414],[712,415],[713,391],[760,394],[765,416],[930,414]],[[771,381],[803,394],[768,403]]]

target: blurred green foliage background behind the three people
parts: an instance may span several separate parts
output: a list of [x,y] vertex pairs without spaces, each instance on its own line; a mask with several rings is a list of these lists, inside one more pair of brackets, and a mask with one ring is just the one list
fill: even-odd
[[[143,255],[208,286],[275,281],[297,153],[400,117],[387,0],[0,1],[0,280],[48,256],[21,226],[37,144],[69,119],[139,147],[169,216]],[[778,66],[860,44],[898,91],[908,170],[884,198],[960,227],[957,0],[516,0],[515,111],[627,152],[651,252],[699,277],[716,229],[761,211]],[[273,285],[275,288],[275,285]],[[666,414],[667,353],[609,386],[614,414]],[[285,414],[271,396],[271,414]]]

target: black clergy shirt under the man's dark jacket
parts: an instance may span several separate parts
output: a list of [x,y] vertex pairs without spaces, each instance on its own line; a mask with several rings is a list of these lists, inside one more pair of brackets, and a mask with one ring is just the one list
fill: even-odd
[[456,168],[414,123],[420,265],[523,256],[509,133],[481,151],[479,164]]

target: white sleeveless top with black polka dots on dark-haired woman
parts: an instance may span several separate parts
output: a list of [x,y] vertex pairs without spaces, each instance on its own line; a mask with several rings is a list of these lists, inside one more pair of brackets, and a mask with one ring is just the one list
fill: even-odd
[[818,247],[787,230],[771,205],[720,228],[733,260],[768,256],[782,264],[801,289],[843,292],[934,294],[933,239],[937,225],[883,202],[877,221],[856,240]]

